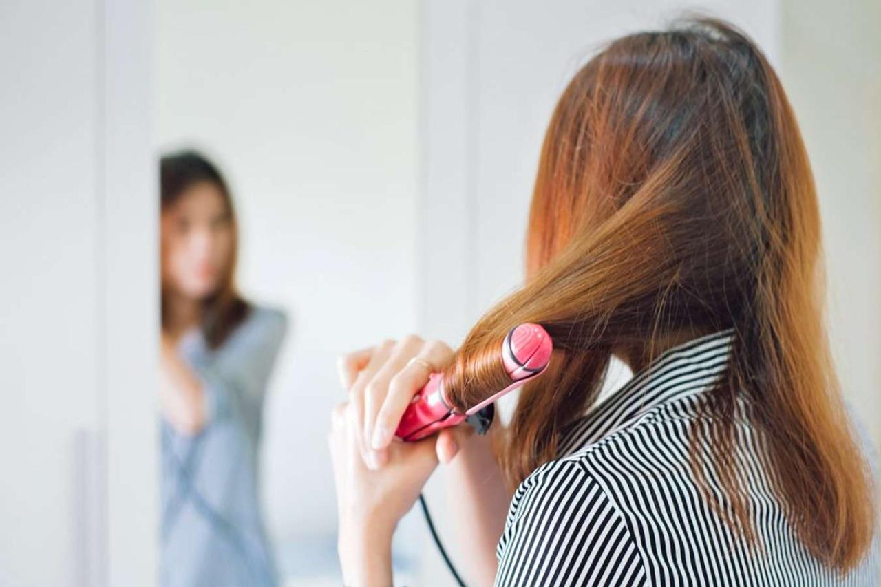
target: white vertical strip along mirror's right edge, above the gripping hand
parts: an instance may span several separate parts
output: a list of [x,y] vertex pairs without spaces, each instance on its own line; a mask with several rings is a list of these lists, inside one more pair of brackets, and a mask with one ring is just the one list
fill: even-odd
[[474,318],[477,11],[468,0],[421,11],[418,326],[454,345]]

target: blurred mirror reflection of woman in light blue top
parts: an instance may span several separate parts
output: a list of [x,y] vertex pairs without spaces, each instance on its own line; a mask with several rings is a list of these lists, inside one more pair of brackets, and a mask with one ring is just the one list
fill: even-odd
[[160,167],[162,581],[274,585],[257,454],[285,316],[235,290],[237,231],[218,169],[196,152]]

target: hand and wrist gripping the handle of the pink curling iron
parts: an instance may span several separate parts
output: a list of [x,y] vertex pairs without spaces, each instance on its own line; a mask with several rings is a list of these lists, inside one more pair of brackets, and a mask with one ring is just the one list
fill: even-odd
[[343,385],[351,389],[349,400],[333,412],[329,444],[337,485],[337,546],[346,584],[392,583],[396,524],[438,462],[449,462],[470,436],[470,427],[454,427],[420,442],[392,440],[415,392],[451,356],[446,345],[408,337],[339,361]]

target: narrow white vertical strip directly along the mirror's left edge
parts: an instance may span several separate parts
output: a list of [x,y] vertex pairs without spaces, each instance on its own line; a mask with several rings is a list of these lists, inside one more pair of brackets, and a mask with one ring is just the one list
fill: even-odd
[[158,583],[157,181],[152,2],[104,0],[99,279],[109,585]]

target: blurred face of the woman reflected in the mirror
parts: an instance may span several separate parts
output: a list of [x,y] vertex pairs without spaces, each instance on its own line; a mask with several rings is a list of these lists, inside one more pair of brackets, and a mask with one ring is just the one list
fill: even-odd
[[163,289],[202,300],[218,290],[233,256],[233,219],[218,186],[199,182],[162,212]]

